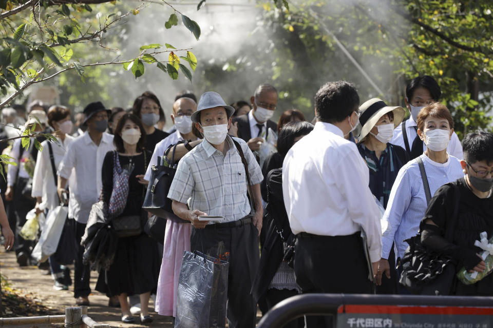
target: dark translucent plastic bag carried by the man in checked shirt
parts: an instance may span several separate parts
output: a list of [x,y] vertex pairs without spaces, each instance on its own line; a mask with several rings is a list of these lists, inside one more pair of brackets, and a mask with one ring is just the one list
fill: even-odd
[[229,262],[200,252],[183,253],[175,328],[226,326]]

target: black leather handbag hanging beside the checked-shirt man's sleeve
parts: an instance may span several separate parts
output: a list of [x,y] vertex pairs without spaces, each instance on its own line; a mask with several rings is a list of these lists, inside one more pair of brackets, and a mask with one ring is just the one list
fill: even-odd
[[[171,207],[173,201],[167,197],[169,187],[171,187],[171,183],[173,182],[176,173],[175,150],[177,145],[178,144],[169,147],[164,153],[164,156],[167,156],[168,152],[173,148],[172,159],[168,165],[161,165],[161,156],[159,156],[158,165],[153,165],[151,167],[151,176],[142,208],[165,220],[189,223],[189,221],[182,220],[173,213]],[[165,224],[166,223],[164,222],[164,226]],[[162,233],[164,235],[164,230]]]

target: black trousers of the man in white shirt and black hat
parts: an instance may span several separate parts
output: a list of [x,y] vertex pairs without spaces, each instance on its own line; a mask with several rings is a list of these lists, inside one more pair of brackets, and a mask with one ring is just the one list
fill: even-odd
[[74,277],[73,277],[73,297],[78,298],[80,296],[89,296],[91,289],[89,287],[89,280],[91,270],[89,265],[82,263],[82,255],[84,254],[84,247],[81,245],[82,236],[86,230],[85,223],[79,223],[74,219],[69,219],[72,224],[72,229],[75,235],[75,265],[74,265]]

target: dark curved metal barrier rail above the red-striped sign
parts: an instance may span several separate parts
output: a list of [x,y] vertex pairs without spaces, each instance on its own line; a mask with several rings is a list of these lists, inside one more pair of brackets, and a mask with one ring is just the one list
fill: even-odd
[[279,302],[260,320],[257,328],[280,328],[304,315],[336,315],[341,305],[478,306],[493,308],[493,297],[305,294]]

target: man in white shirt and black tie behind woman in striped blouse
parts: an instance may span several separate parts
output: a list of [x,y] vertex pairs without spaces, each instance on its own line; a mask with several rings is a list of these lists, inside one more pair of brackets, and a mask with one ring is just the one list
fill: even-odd
[[[418,113],[429,103],[439,101],[441,94],[442,91],[437,81],[429,75],[413,78],[407,85],[405,101],[411,117],[395,128],[394,136],[390,140],[390,143],[404,148],[409,158],[408,160],[421,156],[426,150],[426,145],[420,139],[417,132],[416,118],[418,117]],[[463,158],[461,142],[455,132],[452,133],[447,152],[459,159]]]

